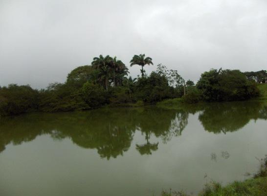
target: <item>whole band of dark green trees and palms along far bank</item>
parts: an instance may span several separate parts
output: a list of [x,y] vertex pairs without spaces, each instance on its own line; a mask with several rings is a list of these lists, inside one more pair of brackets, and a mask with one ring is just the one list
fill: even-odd
[[[168,98],[196,103],[244,100],[259,95],[252,73],[212,69],[202,73],[195,85],[191,80],[185,81],[177,70],[168,70],[162,64],[147,75],[144,67],[153,62],[145,54],[134,55],[130,63],[131,67],[141,66],[141,76],[127,77],[128,68],[121,60],[100,55],[93,58],[91,65],[72,70],[65,83],[52,83],[42,90],[16,84],[0,87],[0,115],[87,110],[107,104],[140,106]],[[267,78],[266,71],[261,74],[260,77]]]

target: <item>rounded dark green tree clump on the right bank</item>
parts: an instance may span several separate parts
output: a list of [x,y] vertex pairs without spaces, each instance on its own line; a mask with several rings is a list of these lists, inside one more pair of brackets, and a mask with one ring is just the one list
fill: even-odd
[[255,82],[247,80],[239,70],[202,73],[197,87],[207,101],[245,100],[259,95]]

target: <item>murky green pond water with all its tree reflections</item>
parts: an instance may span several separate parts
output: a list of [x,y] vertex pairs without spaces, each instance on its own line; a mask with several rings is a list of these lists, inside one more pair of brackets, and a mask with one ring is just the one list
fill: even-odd
[[267,106],[214,103],[27,114],[0,121],[0,196],[198,193],[256,172]]

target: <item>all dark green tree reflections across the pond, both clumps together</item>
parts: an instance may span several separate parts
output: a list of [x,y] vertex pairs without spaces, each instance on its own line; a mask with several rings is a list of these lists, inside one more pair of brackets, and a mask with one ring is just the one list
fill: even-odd
[[[123,155],[141,132],[145,142],[135,145],[140,154],[151,154],[159,142],[167,143],[182,134],[190,113],[200,111],[199,120],[213,133],[236,131],[251,119],[267,120],[267,106],[259,102],[214,103],[166,109],[112,108],[86,112],[28,114],[0,120],[0,152],[8,144],[20,145],[49,134],[54,140],[69,138],[83,148],[96,149],[102,158]],[[154,136],[151,141],[151,136]],[[156,140],[156,141],[155,141]]]

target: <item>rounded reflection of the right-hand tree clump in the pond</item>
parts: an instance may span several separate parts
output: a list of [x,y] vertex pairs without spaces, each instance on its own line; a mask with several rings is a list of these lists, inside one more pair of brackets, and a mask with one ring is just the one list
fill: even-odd
[[214,133],[237,131],[251,119],[267,120],[267,107],[261,102],[210,103],[200,112],[205,130]]

